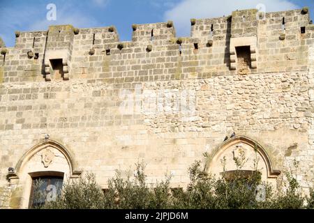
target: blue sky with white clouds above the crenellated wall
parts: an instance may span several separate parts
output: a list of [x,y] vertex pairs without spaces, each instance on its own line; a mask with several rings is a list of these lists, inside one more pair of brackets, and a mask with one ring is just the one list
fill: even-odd
[[[46,19],[49,3],[57,7],[57,20]],[[314,0],[0,0],[0,37],[15,44],[15,31],[43,31],[52,24],[78,28],[117,27],[120,40],[130,40],[132,24],[174,21],[177,36],[190,35],[190,18],[230,15],[232,10],[256,8],[267,12],[308,6],[314,19]]]

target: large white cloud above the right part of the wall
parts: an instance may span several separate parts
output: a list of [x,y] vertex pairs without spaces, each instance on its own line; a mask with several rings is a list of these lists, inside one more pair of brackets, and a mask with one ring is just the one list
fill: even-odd
[[184,0],[167,10],[164,20],[173,20],[177,36],[190,36],[190,19],[201,19],[231,15],[233,10],[256,8],[264,4],[267,12],[300,8],[287,0]]

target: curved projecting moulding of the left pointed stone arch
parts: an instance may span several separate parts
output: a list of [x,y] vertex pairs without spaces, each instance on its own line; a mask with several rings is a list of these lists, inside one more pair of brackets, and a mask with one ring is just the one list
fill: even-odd
[[70,178],[77,178],[80,176],[82,171],[77,169],[77,162],[75,161],[74,155],[68,148],[63,146],[59,141],[52,140],[52,139],[45,139],[40,141],[40,143],[36,144],[35,146],[31,147],[29,151],[24,153],[20,160],[18,160],[15,169],[13,172],[8,174],[9,179],[18,179],[21,169],[24,167],[25,164],[35,155],[36,153],[43,151],[45,148],[54,148],[59,151],[68,162],[68,166],[70,168]]

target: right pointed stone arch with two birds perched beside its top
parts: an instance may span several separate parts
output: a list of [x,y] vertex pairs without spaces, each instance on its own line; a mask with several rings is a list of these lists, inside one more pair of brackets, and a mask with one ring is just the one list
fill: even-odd
[[[216,148],[207,158],[205,170],[211,172],[212,174],[218,174],[217,166],[221,164],[220,159],[223,158],[226,153],[230,155],[229,152],[232,150],[234,151],[234,148],[237,148],[238,146],[244,146],[246,147],[246,150],[251,150],[251,152],[254,151],[254,153],[256,151],[256,154],[258,155],[257,157],[261,157],[259,162],[261,162],[261,166],[264,167],[264,176],[266,176],[264,180],[268,178],[277,178],[277,176],[281,174],[281,171],[274,168],[273,158],[269,155],[269,153],[267,153],[261,144],[253,139],[241,135],[227,139],[223,142],[223,144],[218,146],[218,148]],[[252,158],[253,157],[248,157],[248,160]]]

